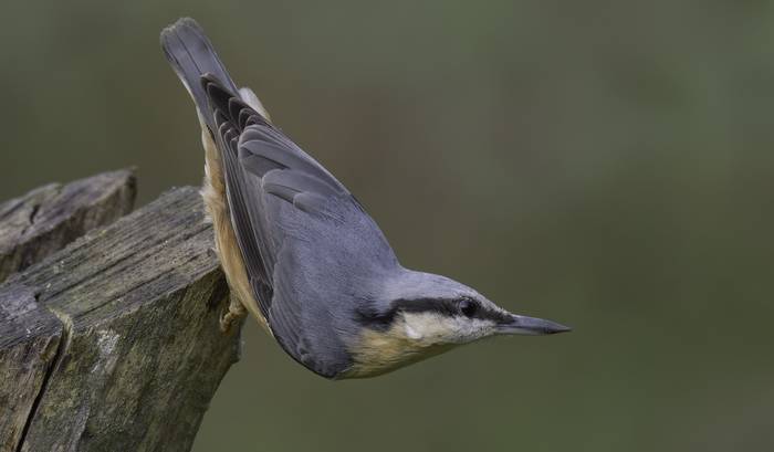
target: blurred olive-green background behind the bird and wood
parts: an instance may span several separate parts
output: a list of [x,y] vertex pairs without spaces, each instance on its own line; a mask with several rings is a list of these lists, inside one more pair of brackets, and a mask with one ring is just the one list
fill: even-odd
[[250,322],[195,450],[771,451],[765,1],[2,2],[0,199],[198,185],[158,48],[200,21],[405,265],[575,327],[330,382]]

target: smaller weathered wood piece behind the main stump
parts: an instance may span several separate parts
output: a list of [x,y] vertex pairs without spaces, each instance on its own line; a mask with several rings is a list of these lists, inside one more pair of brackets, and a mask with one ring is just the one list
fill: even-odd
[[50,183],[0,203],[0,282],[132,210],[132,171]]

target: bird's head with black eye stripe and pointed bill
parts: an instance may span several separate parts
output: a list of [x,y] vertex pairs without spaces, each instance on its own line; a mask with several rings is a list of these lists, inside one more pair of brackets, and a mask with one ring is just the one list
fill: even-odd
[[407,271],[385,284],[381,302],[357,313],[362,329],[349,347],[347,377],[381,375],[484,337],[571,329],[512,314],[444,276]]

